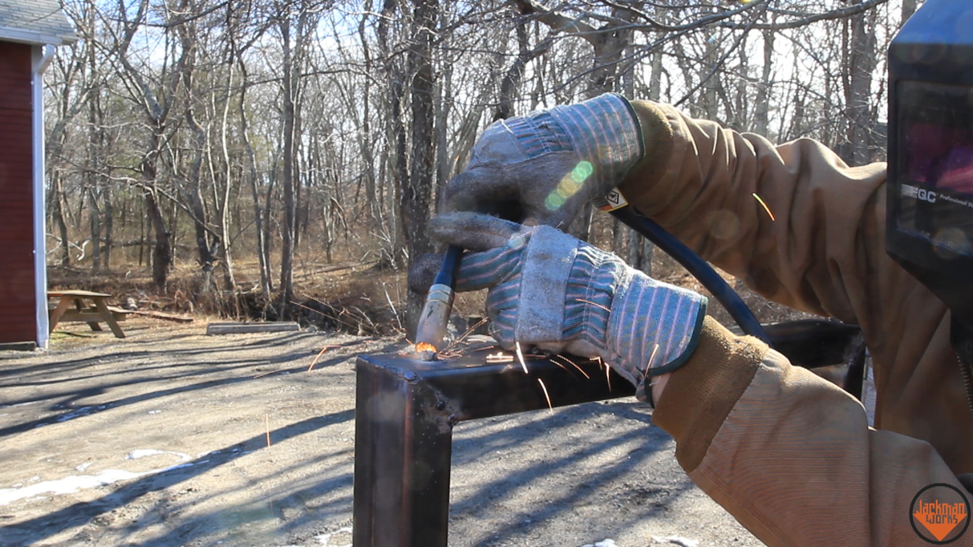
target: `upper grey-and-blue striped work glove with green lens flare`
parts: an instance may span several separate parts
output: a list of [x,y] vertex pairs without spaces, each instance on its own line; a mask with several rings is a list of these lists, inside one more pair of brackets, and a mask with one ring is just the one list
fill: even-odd
[[566,230],[587,201],[607,196],[644,153],[631,104],[613,93],[501,120],[486,128],[466,169],[446,185],[445,210]]

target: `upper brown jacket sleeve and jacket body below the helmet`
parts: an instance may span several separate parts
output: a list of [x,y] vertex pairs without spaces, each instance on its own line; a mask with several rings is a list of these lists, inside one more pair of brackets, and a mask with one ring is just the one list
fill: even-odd
[[973,470],[949,312],[885,252],[885,164],[848,167],[812,139],[775,146],[671,106],[632,108],[646,154],[620,185],[629,201],[764,297],[859,325],[875,425],[928,441],[956,474]]

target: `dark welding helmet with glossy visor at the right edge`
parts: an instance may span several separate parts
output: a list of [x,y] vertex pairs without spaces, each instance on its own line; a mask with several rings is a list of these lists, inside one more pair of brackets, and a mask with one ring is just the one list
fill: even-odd
[[885,246],[950,308],[973,362],[973,2],[927,0],[888,53]]

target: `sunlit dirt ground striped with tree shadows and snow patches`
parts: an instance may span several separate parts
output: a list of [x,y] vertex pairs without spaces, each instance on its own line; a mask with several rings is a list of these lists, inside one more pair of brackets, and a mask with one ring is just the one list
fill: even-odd
[[[354,360],[401,342],[124,326],[0,352],[0,545],[350,544]],[[650,418],[619,399],[460,423],[450,545],[759,545]]]

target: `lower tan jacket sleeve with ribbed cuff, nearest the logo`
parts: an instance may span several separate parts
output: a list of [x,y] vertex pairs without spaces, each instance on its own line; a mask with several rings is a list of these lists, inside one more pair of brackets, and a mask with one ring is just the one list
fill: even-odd
[[913,497],[962,488],[928,443],[870,428],[845,391],[710,317],[653,421],[693,482],[769,545],[921,544]]

